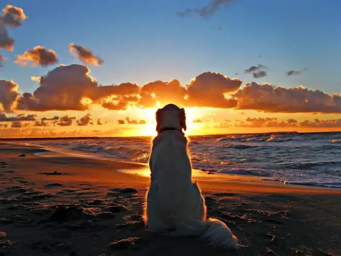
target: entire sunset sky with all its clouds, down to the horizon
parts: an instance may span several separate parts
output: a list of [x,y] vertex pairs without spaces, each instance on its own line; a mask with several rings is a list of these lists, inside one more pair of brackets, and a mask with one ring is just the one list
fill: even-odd
[[167,103],[185,107],[189,135],[341,130],[338,0],[1,9],[2,138],[154,135]]

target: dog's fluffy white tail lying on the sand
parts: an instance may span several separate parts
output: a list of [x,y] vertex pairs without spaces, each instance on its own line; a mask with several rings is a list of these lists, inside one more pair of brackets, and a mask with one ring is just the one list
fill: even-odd
[[237,237],[233,236],[227,225],[218,219],[208,218],[206,221],[187,220],[179,224],[169,236],[200,236],[215,247],[226,250],[238,249]]

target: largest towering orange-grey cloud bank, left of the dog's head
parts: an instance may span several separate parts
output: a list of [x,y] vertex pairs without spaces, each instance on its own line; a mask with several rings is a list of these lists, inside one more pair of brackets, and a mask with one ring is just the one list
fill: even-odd
[[19,98],[18,109],[84,111],[95,103],[108,109],[124,110],[131,102],[136,103],[140,90],[137,84],[98,86],[89,73],[90,69],[84,65],[59,65],[40,78],[33,94],[24,93]]

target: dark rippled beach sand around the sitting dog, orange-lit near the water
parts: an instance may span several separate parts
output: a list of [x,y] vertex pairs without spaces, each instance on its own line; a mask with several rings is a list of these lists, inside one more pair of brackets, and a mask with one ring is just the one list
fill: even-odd
[[225,252],[144,230],[147,165],[46,152],[0,144],[0,256],[341,256],[341,190],[193,171]]

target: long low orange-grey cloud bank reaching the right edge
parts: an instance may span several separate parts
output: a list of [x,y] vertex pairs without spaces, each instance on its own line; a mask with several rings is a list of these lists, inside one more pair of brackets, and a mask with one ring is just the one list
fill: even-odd
[[283,88],[270,84],[247,83],[232,97],[237,109],[277,113],[341,113],[341,96],[310,90],[303,86]]

